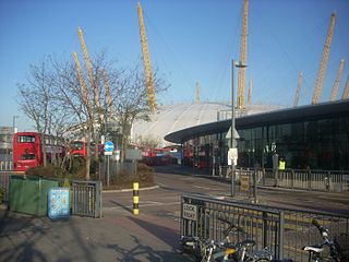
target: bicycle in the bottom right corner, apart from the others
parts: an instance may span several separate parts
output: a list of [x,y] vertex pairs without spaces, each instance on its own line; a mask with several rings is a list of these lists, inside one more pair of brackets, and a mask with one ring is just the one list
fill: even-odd
[[[312,224],[317,228],[317,230],[324,241],[320,245],[305,246],[302,248],[302,250],[309,252],[309,260],[308,261],[309,262],[311,262],[311,261],[316,261],[316,262],[325,261],[325,259],[322,257],[322,252],[324,251],[325,247],[327,246],[329,248],[329,255],[332,259],[330,261],[340,262],[339,252],[338,252],[339,247],[335,241],[333,241],[328,238],[328,229],[321,226],[318,224],[318,222],[315,219],[312,221]],[[328,260],[326,259],[326,261],[328,261]]]

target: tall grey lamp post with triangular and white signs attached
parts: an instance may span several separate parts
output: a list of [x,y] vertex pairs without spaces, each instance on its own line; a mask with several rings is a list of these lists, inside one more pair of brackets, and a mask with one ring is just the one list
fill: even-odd
[[238,146],[236,141],[236,104],[234,104],[234,68],[245,68],[246,64],[243,64],[241,61],[237,63],[232,59],[231,63],[231,141],[230,141],[230,157],[231,157],[231,196],[234,195],[234,172],[236,172],[236,164],[234,160],[238,156]]

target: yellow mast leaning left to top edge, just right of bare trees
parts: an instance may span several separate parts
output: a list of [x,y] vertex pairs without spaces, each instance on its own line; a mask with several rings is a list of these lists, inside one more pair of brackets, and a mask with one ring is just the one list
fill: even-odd
[[142,43],[147,103],[148,103],[149,109],[152,111],[156,111],[157,105],[156,105],[156,97],[155,97],[154,75],[153,75],[148,43],[146,39],[145,26],[143,21],[143,11],[142,11],[140,1],[137,3],[137,13],[139,13],[139,20],[140,20],[140,33],[141,33],[141,43]]

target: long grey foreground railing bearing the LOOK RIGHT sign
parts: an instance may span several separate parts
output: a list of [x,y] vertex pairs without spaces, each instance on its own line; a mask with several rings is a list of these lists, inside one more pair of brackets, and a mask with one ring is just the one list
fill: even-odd
[[322,242],[317,229],[311,224],[313,218],[329,229],[330,237],[349,240],[349,217],[202,195],[182,195],[180,233],[182,236],[221,240],[229,222],[244,230],[232,235],[232,242],[252,239],[256,242],[255,250],[268,247],[276,259],[302,262],[308,261],[308,253],[301,248]]

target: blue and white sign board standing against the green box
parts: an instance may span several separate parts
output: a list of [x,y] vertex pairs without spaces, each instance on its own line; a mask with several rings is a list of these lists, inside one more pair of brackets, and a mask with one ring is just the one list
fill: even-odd
[[51,188],[48,191],[48,217],[67,218],[70,215],[69,188]]

